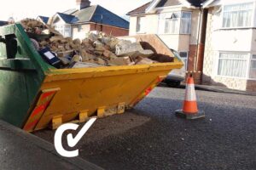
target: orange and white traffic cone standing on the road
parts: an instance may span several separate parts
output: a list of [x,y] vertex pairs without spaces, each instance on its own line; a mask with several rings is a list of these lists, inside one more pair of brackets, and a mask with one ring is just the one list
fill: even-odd
[[195,96],[195,83],[192,75],[188,77],[186,85],[186,94],[183,103],[183,110],[175,111],[177,116],[181,116],[186,119],[198,119],[205,117],[204,111],[198,111],[197,102]]

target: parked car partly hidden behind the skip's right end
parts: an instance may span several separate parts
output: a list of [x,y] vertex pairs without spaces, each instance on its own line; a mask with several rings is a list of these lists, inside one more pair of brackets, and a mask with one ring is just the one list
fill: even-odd
[[177,88],[180,86],[181,82],[185,80],[186,77],[186,65],[184,63],[184,60],[180,57],[180,55],[177,53],[177,51],[172,49],[172,53],[177,56],[177,58],[181,59],[183,61],[183,68],[181,69],[175,69],[171,71],[166,79],[163,81],[167,84],[167,86],[171,88]]

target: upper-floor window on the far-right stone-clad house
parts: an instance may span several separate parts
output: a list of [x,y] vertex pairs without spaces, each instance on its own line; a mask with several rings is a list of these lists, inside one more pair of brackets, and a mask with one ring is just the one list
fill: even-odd
[[223,13],[224,28],[252,26],[253,3],[225,5]]

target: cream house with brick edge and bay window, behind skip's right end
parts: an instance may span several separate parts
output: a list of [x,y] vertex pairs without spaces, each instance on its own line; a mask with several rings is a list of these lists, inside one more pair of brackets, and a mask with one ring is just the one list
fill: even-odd
[[207,10],[205,0],[154,0],[129,12],[131,36],[157,34],[176,50],[201,83]]

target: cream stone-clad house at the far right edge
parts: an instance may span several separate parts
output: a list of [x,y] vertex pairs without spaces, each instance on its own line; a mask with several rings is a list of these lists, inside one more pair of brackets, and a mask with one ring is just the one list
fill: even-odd
[[255,0],[208,0],[203,83],[256,91]]

